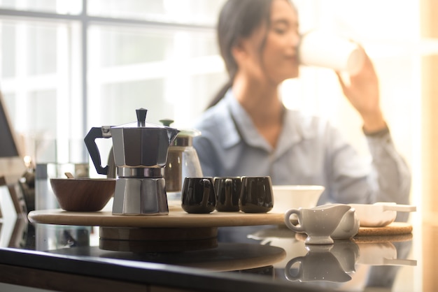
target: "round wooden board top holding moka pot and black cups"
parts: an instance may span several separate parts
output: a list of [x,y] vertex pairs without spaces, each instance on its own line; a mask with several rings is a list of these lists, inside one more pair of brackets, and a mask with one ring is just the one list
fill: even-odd
[[109,226],[141,228],[194,228],[220,226],[283,225],[280,213],[211,212],[188,214],[181,208],[169,208],[168,215],[113,215],[111,211],[66,212],[61,209],[36,210],[28,214],[29,221],[39,224],[72,226]]

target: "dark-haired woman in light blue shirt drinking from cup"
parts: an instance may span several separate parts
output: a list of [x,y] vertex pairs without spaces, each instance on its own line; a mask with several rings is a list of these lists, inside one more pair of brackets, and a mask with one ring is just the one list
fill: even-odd
[[371,167],[325,120],[281,103],[278,86],[299,75],[299,38],[297,11],[288,0],[225,3],[218,42],[230,82],[196,124],[202,136],[194,145],[204,175],[320,184],[320,204],[409,203],[409,169],[391,140],[368,57],[348,85],[339,82],[362,117]]

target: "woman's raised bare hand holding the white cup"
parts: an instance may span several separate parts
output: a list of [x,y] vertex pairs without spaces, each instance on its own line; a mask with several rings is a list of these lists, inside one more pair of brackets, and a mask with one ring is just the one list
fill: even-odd
[[362,69],[350,76],[349,84],[337,75],[346,98],[363,119],[364,131],[372,133],[386,128],[379,103],[379,80],[368,55],[365,53]]

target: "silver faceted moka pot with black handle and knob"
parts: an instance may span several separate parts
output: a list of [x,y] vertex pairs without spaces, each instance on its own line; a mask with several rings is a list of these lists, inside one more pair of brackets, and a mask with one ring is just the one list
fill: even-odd
[[136,110],[137,122],[121,126],[93,127],[85,136],[85,145],[97,173],[108,174],[101,166],[97,138],[113,139],[117,180],[113,214],[169,214],[164,166],[167,150],[178,134],[169,126],[146,123],[147,110]]

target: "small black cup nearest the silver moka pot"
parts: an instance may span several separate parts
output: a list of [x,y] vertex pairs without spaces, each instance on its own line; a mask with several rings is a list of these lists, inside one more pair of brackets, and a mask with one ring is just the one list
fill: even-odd
[[213,177],[185,177],[181,207],[188,213],[206,214],[216,207]]

